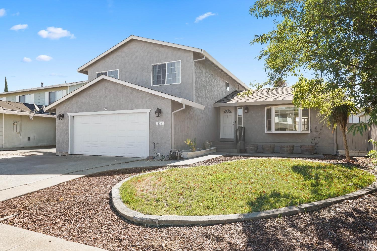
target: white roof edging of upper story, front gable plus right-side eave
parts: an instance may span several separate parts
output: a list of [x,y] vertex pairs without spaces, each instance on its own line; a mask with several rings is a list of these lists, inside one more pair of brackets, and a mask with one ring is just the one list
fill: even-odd
[[90,60],[89,62],[87,62],[86,64],[84,64],[80,68],[78,68],[77,71],[80,72],[80,73],[83,73],[83,74],[87,75],[88,74],[87,68],[89,67],[89,65],[91,65],[94,62],[100,60],[101,58],[103,58],[104,56],[106,56],[107,54],[109,54],[110,52],[112,52],[113,50],[117,49],[118,47],[122,46],[123,44],[126,44],[128,41],[130,41],[132,39],[134,39],[134,40],[140,40],[140,41],[146,41],[146,42],[149,42],[149,43],[162,44],[162,45],[166,45],[166,46],[170,46],[170,47],[175,47],[175,48],[184,49],[184,50],[191,50],[193,52],[201,53],[203,56],[206,57],[206,59],[208,59],[211,62],[213,62],[213,64],[215,64],[217,67],[219,67],[222,71],[224,71],[231,78],[233,78],[234,81],[238,82],[238,84],[242,85],[242,87],[244,87],[245,89],[249,89],[247,87],[247,85],[245,85],[244,82],[242,82],[236,76],[234,76],[233,73],[231,73],[227,68],[225,68],[224,66],[222,66],[215,58],[213,58],[211,55],[209,55],[208,52],[206,52],[205,50],[202,50],[202,49],[199,49],[199,48],[195,48],[195,47],[190,47],[190,46],[184,46],[184,45],[181,45],[181,44],[174,44],[174,43],[169,43],[169,42],[154,40],[154,39],[150,39],[150,38],[137,37],[137,36],[134,36],[134,35],[129,36],[125,40],[123,40],[120,43],[116,44],[115,46],[111,47],[106,52],[104,52],[101,55],[93,58],[92,60]]

